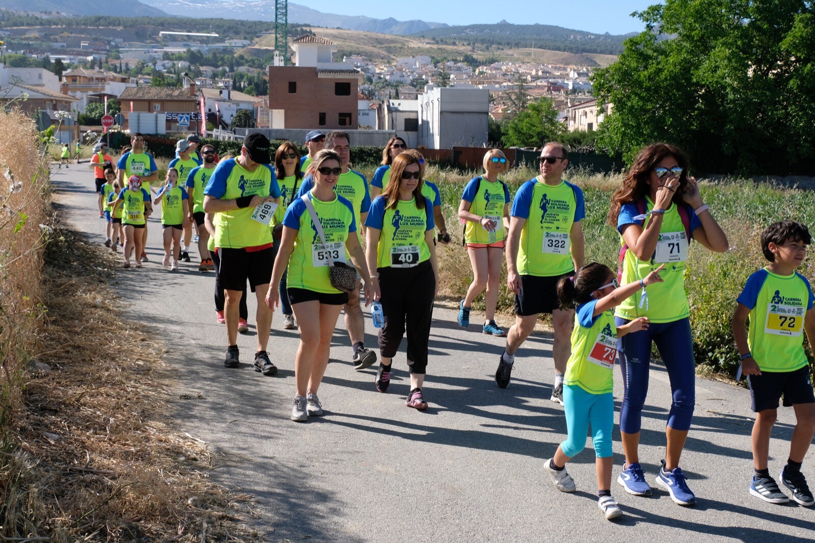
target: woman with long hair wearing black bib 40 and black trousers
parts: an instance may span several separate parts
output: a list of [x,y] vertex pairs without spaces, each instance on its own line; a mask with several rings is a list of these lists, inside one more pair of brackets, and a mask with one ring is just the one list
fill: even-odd
[[433,245],[433,202],[422,195],[422,167],[412,153],[392,162],[392,178],[365,220],[368,269],[379,284],[385,326],[379,330],[380,359],[377,391],[390,385],[390,367],[407,328],[407,367],[410,392],[405,405],[427,408],[425,382],[430,318],[438,285]]

